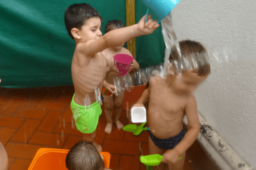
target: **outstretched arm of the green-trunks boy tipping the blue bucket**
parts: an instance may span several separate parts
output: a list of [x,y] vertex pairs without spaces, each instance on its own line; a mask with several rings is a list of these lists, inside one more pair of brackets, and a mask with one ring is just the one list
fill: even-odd
[[148,15],[147,23],[145,23],[145,16],[143,16],[139,23],[120,29],[114,29],[99,39],[89,40],[84,43],[84,48],[81,49],[86,49],[83,50],[84,55],[92,56],[111,46],[125,43],[132,38],[151,34],[158,26],[160,25],[157,24],[157,20],[153,20],[150,15]]

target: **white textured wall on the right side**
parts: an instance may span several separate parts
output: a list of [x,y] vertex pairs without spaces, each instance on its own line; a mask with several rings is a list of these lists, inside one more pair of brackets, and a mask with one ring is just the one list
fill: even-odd
[[198,112],[256,169],[256,0],[180,0],[172,18],[178,40],[211,54]]

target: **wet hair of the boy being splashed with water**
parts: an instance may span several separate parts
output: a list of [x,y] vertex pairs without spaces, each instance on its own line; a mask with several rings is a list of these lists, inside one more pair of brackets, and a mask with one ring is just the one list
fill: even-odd
[[[179,45],[182,58],[189,58],[191,55],[200,55],[201,60],[208,60],[207,51],[201,43],[192,40],[183,40],[179,42]],[[169,56],[169,63],[172,63],[172,65],[175,66],[175,61],[178,61],[178,58],[179,55],[177,49],[174,48]],[[196,69],[195,72],[197,72],[199,76],[210,74],[211,69],[209,62],[198,62],[196,64],[198,64],[198,69]]]

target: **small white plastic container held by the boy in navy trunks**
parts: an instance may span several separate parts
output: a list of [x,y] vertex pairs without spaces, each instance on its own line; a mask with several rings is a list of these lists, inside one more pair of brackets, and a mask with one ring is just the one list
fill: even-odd
[[147,121],[147,114],[145,107],[131,108],[131,121],[133,123],[144,123]]

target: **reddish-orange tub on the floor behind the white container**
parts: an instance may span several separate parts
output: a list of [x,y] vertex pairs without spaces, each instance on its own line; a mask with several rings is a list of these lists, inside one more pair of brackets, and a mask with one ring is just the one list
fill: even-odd
[[128,107],[130,110],[131,106],[134,105],[137,102],[137,100],[139,100],[144,90],[147,89],[147,85],[148,81],[140,86],[131,86],[131,92],[125,90],[125,98],[122,104],[122,108],[127,110],[126,102],[128,102]]

